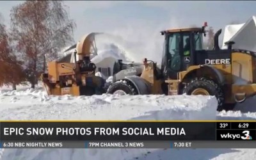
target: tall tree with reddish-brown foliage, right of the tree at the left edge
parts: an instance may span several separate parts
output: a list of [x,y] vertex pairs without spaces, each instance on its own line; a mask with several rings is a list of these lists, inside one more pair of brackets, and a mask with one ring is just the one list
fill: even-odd
[[74,43],[75,26],[63,1],[26,1],[12,8],[12,39],[22,54],[31,88],[45,71],[46,61],[57,58],[58,51]]

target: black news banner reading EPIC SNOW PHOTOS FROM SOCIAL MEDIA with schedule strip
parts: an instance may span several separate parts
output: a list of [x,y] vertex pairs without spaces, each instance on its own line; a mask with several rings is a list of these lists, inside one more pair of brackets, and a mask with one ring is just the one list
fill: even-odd
[[255,148],[256,121],[2,121],[1,148]]

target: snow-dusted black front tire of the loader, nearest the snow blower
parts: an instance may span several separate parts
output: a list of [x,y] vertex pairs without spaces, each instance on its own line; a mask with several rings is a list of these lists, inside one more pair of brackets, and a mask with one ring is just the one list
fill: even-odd
[[122,90],[127,95],[138,95],[138,91],[137,91],[136,87],[131,82],[126,81],[126,80],[118,81],[118,82],[111,84],[108,88],[107,93],[113,94],[117,90]]

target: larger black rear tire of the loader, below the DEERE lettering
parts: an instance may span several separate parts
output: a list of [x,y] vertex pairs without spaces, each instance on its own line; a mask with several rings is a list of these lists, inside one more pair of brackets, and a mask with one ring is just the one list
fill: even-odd
[[209,95],[216,97],[218,100],[218,111],[223,108],[225,97],[220,85],[204,77],[194,78],[191,79],[191,81],[184,87],[183,93],[192,95],[192,93],[198,88],[204,89],[209,93]]

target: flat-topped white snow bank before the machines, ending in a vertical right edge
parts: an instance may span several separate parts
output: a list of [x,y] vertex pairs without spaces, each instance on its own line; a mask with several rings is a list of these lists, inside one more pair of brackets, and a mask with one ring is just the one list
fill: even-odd
[[[216,99],[205,96],[46,96],[42,90],[0,94],[1,120],[209,120]],[[72,107],[70,107],[72,106]],[[204,112],[204,115],[201,113]],[[120,114],[120,113],[125,113]]]

